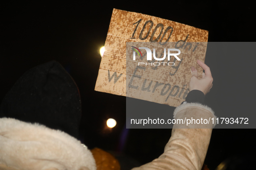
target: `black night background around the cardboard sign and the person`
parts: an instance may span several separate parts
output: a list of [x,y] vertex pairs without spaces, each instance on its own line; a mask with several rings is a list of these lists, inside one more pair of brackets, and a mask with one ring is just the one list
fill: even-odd
[[[101,60],[99,49],[104,46],[113,8],[205,29],[210,42],[255,41],[256,15],[249,1],[155,3],[0,4],[0,100],[28,69],[56,60],[70,72],[80,90],[81,139],[89,148],[117,151],[125,123],[126,98],[94,91]],[[214,85],[205,100],[217,116],[222,112],[255,113],[255,62],[255,56],[206,57]],[[170,112],[173,110],[170,107]],[[104,121],[110,117],[117,120],[117,126],[106,131]],[[229,156],[255,152],[255,132],[214,129],[205,163],[215,169]],[[140,163],[152,161],[163,152],[170,135],[171,129],[130,129],[123,152]]]

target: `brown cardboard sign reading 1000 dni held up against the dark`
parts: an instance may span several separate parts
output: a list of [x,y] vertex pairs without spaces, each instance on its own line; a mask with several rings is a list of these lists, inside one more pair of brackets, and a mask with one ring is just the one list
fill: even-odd
[[[197,42],[207,42],[207,40],[208,31],[199,28],[154,16],[113,9],[95,90],[176,107],[185,100],[188,94],[188,82],[191,77],[190,67],[195,66],[199,75],[203,72],[203,69],[196,64],[196,60],[204,61],[207,43]],[[158,52],[163,51],[164,48],[168,49],[170,46],[177,48],[181,50],[181,60],[171,56],[169,62],[175,63],[175,65],[168,67],[166,65],[158,66],[159,69],[152,69],[155,65],[150,65],[150,70],[147,66],[149,72],[142,72],[146,71],[146,69],[138,69],[138,62],[126,68],[126,61],[133,60],[134,51],[130,47],[134,44],[126,42],[160,42],[149,44],[149,46],[160,45],[161,47],[158,47],[159,50],[156,47]],[[169,42],[175,43],[168,44]],[[166,45],[169,46],[166,47]],[[128,47],[130,50],[128,55],[130,57],[126,60],[126,48],[128,49]],[[142,46],[138,44],[137,47]],[[153,52],[153,49],[151,50]],[[156,55],[161,56],[158,52],[156,52]],[[146,60],[146,57],[143,58],[142,56],[145,54],[146,50],[141,50],[140,56],[136,54],[138,55],[137,61],[139,61],[139,57],[142,57],[140,58],[141,62]],[[135,69],[136,73],[134,74]],[[136,77],[135,75],[140,75],[140,79],[133,78],[131,84],[130,81],[132,77]],[[147,82],[148,79],[146,81],[145,79],[149,78],[149,75],[151,75],[150,81]],[[151,85],[149,86],[150,83]],[[138,86],[138,88],[130,88],[129,84],[130,87]],[[156,86],[159,87],[157,88]],[[128,91],[129,93],[127,93]],[[152,93],[152,91],[154,92]],[[171,94],[170,91],[172,91]],[[166,100],[167,96],[169,97]]]

